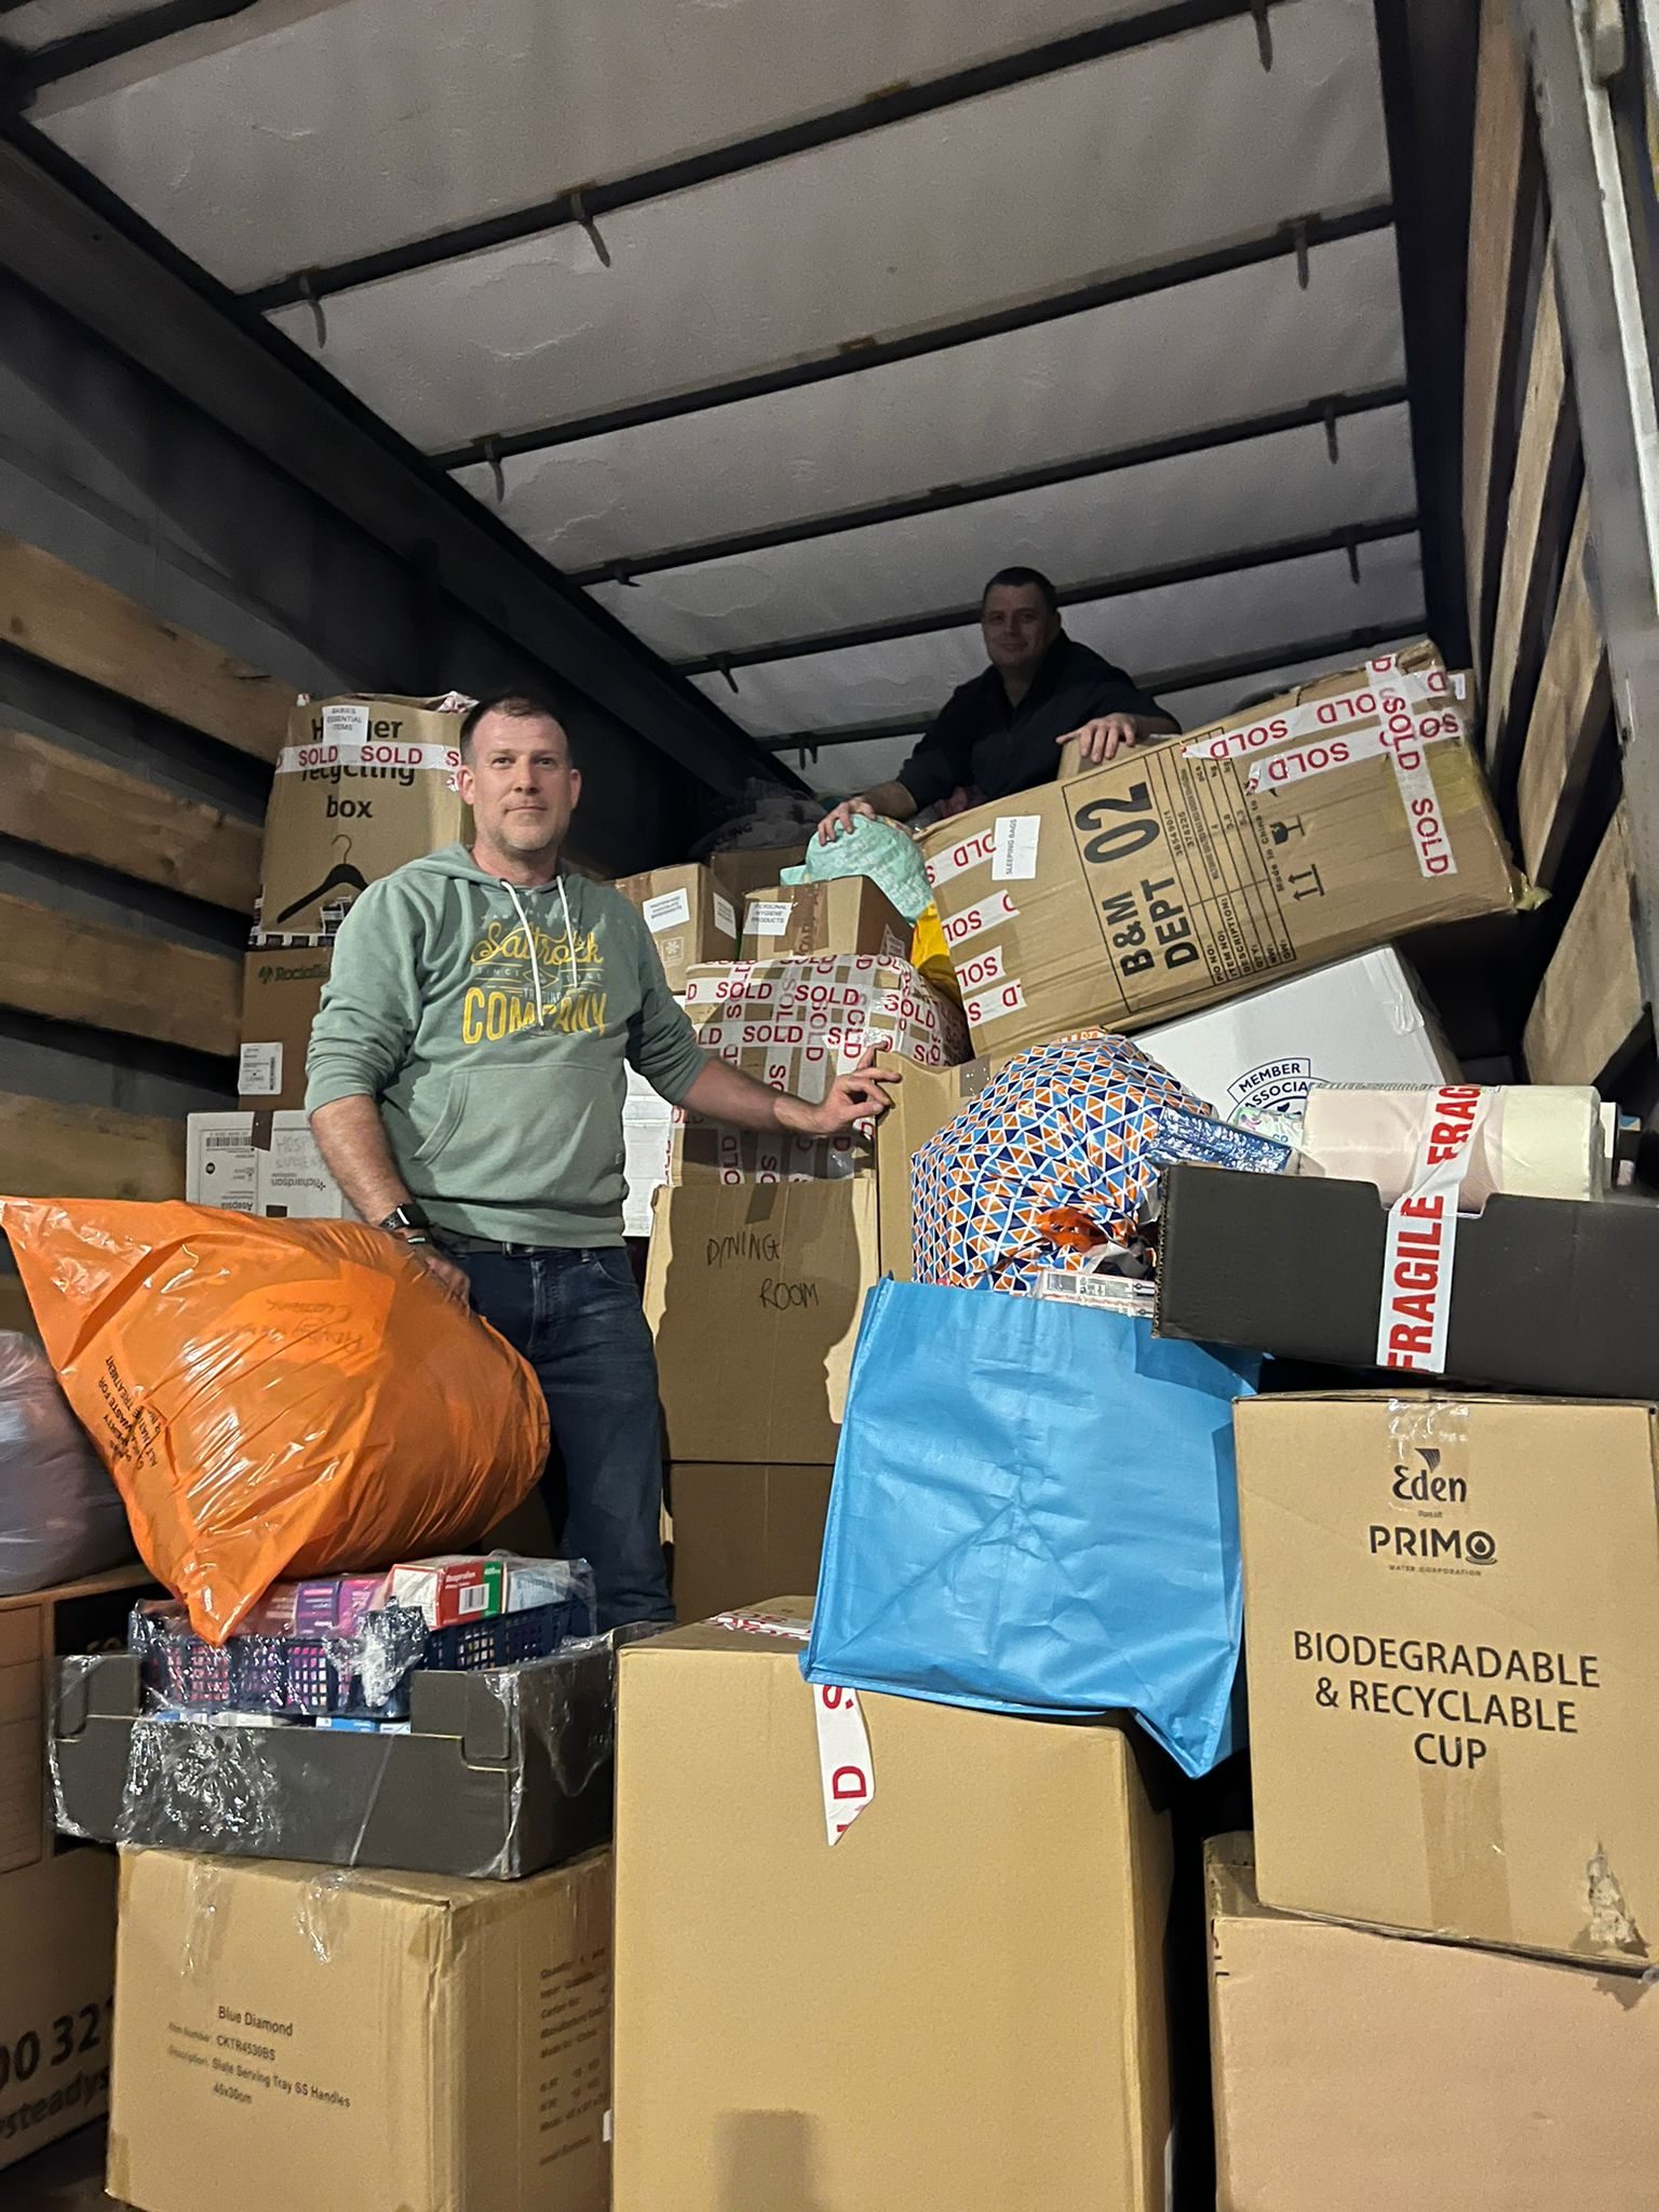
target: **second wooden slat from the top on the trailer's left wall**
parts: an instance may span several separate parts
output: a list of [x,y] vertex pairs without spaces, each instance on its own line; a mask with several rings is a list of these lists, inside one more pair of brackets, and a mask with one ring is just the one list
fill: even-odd
[[0,728],[0,827],[29,845],[95,860],[212,907],[254,911],[259,830],[219,807]]

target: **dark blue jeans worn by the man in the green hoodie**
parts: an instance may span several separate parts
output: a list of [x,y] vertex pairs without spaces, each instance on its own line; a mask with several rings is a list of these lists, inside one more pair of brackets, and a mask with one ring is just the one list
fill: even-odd
[[661,1548],[657,1354],[619,1245],[456,1252],[473,1305],[535,1369],[553,1425],[553,1533],[588,1559],[599,1628],[672,1621]]

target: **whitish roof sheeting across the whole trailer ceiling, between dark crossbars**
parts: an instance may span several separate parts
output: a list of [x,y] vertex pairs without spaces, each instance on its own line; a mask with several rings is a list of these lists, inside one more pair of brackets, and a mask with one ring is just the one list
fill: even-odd
[[[51,86],[35,119],[234,285],[509,215],[779,124],[1018,55],[1150,0],[259,0]],[[27,0],[20,40],[122,13]],[[1363,394],[1405,376],[1394,237],[1166,283],[1387,197],[1371,0],[1248,13],[787,153],[577,226],[330,294],[274,323],[429,451],[854,361],[1121,279],[1148,290],[907,361],[511,456],[458,480],[564,566],[648,557]],[[1214,562],[1413,509],[1402,407],[1079,476],[595,595],[670,659],[969,606],[1011,560],[1064,588]],[[1422,622],[1418,542],[1075,604],[1137,675]],[[1340,655],[1338,655],[1340,657]],[[982,668],[973,624],[699,677],[757,734],[929,719]],[[1272,675],[1194,686],[1183,721]],[[889,774],[907,739],[825,748]]]

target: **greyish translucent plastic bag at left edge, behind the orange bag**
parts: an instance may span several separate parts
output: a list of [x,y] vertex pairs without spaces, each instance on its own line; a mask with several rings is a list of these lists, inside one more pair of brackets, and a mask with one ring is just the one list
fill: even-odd
[[0,1597],[133,1557],[122,1493],[31,1336],[0,1329]]

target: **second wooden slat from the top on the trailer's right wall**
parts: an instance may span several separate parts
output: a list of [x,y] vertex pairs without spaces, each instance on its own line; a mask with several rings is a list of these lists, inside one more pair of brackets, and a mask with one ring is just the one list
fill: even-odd
[[1513,765],[1515,741],[1526,728],[1524,717],[1537,668],[1555,555],[1573,526],[1568,495],[1577,458],[1577,416],[1568,396],[1551,254],[1553,250],[1546,246],[1533,325],[1533,358],[1526,374],[1526,405],[1515,449],[1515,478],[1509,487],[1509,522],[1498,575],[1498,622],[1486,684],[1486,759],[1504,774]]

